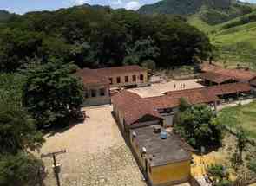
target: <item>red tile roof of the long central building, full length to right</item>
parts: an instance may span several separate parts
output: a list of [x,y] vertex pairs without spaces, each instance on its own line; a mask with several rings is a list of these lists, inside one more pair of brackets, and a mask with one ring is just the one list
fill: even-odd
[[187,99],[191,105],[218,101],[219,95],[251,91],[248,83],[230,83],[213,87],[200,87],[181,91],[167,92],[166,95],[141,98],[136,93],[122,91],[112,97],[112,102],[123,114],[126,125],[133,125],[145,115],[161,119],[158,109],[180,106],[180,99]]

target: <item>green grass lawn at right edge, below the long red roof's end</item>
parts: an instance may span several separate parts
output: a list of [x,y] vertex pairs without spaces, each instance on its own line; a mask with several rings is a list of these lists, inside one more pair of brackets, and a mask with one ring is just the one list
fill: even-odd
[[256,101],[244,106],[234,106],[220,112],[225,125],[241,126],[249,138],[256,139]]

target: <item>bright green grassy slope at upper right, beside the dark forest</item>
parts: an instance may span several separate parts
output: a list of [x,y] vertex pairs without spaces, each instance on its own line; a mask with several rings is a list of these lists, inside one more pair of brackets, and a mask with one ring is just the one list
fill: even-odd
[[218,61],[224,66],[256,69],[256,11],[239,16],[228,22],[214,26],[203,22],[198,16],[192,16],[188,22],[205,32],[216,48]]

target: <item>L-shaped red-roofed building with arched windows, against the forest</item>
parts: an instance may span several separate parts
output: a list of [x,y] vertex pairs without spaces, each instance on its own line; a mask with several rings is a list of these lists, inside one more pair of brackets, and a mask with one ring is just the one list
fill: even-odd
[[82,79],[83,106],[110,104],[111,87],[142,87],[148,85],[147,70],[137,66],[83,68],[76,72]]

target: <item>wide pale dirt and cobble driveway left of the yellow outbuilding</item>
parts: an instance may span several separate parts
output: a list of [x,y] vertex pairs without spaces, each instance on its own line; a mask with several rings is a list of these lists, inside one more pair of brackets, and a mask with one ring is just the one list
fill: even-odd
[[[57,157],[62,164],[62,185],[145,186],[135,159],[112,118],[112,106],[85,110],[89,118],[83,124],[45,136],[41,153],[67,150],[66,154]],[[43,161],[49,170],[46,186],[54,186],[52,159],[44,158]]]

